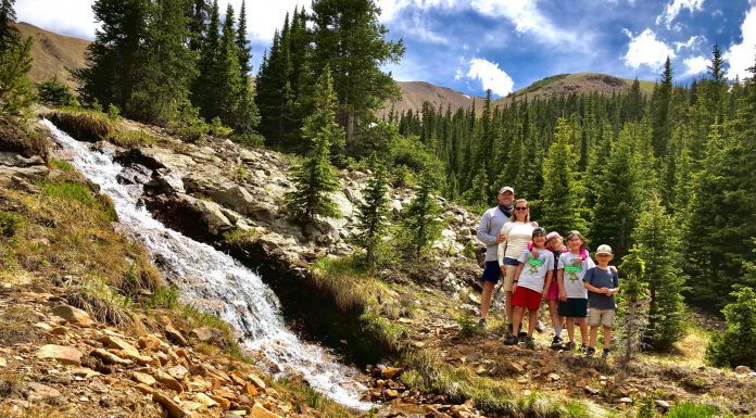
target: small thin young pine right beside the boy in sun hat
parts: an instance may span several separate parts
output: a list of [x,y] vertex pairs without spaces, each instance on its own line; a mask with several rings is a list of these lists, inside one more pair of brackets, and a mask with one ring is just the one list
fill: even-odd
[[622,258],[619,269],[623,273],[619,293],[619,309],[625,324],[625,357],[627,363],[634,353],[641,351],[642,335],[647,325],[648,284],[645,277],[645,264],[640,250],[632,248]]

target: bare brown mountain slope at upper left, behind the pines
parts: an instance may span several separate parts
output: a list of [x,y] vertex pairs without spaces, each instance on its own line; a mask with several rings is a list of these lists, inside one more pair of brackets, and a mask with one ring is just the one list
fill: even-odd
[[34,64],[29,76],[38,83],[58,75],[58,78],[70,87],[76,84],[71,79],[67,68],[81,68],[86,65],[85,52],[89,41],[70,36],[53,34],[25,22],[16,24],[24,38],[32,37],[32,58]]

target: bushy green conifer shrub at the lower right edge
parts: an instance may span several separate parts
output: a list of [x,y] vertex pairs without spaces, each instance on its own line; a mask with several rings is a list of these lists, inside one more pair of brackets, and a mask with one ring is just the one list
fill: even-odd
[[756,368],[756,293],[752,288],[733,292],[735,301],[724,306],[727,330],[711,337],[706,360],[718,367]]

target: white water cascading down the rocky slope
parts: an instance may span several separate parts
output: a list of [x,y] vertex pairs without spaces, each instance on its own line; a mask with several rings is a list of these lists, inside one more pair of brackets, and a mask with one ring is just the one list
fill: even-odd
[[365,387],[355,380],[356,370],[286,328],[278,299],[260,276],[229,255],[165,227],[138,203],[141,185],[118,183],[124,167],[111,155],[92,151],[90,144],[71,138],[47,119],[41,123],[60,144],[60,156],[113,200],[119,229],[146,244],[184,302],[219,315],[242,333],[245,347],[265,353],[284,372],[302,375],[313,388],[345,406],[370,407],[360,401]]

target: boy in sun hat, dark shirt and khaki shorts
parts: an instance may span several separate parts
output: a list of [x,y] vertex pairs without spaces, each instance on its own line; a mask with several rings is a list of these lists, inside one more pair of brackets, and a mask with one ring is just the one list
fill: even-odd
[[603,357],[609,355],[612,350],[612,327],[615,320],[617,303],[614,295],[619,292],[619,277],[617,271],[609,268],[609,262],[614,258],[612,248],[606,244],[598,245],[595,253],[596,266],[589,268],[583,277],[583,286],[588,289],[588,325],[591,327],[591,340],[585,351],[587,356],[595,353],[598,327],[604,328]]

